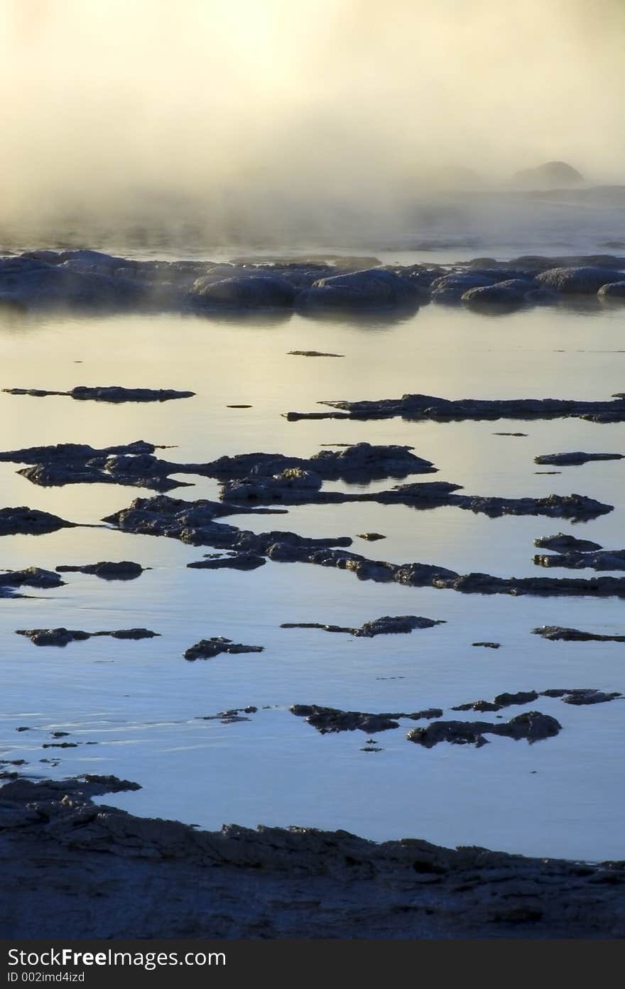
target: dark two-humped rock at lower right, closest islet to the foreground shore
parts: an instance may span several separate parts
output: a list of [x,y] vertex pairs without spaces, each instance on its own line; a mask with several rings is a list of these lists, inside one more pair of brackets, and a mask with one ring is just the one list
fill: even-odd
[[412,728],[406,738],[408,742],[416,742],[426,749],[431,749],[439,742],[481,748],[488,742],[485,735],[499,735],[515,741],[527,739],[531,745],[533,742],[553,738],[561,729],[562,725],[549,714],[527,711],[501,725],[489,721],[434,721],[426,728]]

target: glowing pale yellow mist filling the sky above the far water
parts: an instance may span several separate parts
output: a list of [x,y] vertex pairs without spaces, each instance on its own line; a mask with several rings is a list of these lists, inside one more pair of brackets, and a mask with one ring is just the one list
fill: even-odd
[[550,159],[623,181],[620,0],[3,0],[0,36],[5,232],[371,238]]

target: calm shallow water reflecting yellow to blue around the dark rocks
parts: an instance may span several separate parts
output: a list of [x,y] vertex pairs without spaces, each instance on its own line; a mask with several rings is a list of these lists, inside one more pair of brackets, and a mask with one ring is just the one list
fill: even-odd
[[[323,399],[405,392],[601,400],[625,391],[624,329],[624,311],[593,307],[487,317],[428,306],[406,318],[340,321],[299,315],[8,321],[0,324],[2,387],[119,384],[192,389],[197,396],[163,405],[104,405],[0,395],[0,448],[146,439],[177,444],[168,459],[205,461],[254,450],[307,456],[322,443],[408,443],[439,468],[435,479],[423,480],[455,482],[467,494],[577,492],[615,505],[610,514],[574,526],[540,516],[490,519],[452,507],[416,511],[374,503],[231,519],[255,531],[315,536],[375,530],[387,539],[355,538],[352,548],[374,559],[536,576],[533,539],[539,535],[562,529],[622,548],[625,461],[564,467],[553,476],[536,474],[550,468],[533,463],[549,452],[625,452],[622,423],[288,422],[280,413],[312,410]],[[295,349],[345,356],[287,355]],[[225,407],[236,403],[252,407]],[[43,489],[17,475],[18,468],[0,464],[3,505],[28,504],[73,521],[97,523],[135,496],[151,494],[112,485]],[[173,496],[218,493],[215,481],[184,480],[197,483]],[[0,601],[0,758],[27,760],[29,773],[112,772],[143,788],[107,795],[104,802],[209,828],[229,821],[300,824],[376,840],[422,837],[525,854],[623,857],[625,700],[577,708],[541,698],[531,706],[558,718],[563,731],[557,738],[534,746],[493,738],[480,750],[421,749],[406,743],[413,723],[402,722],[376,736],[381,752],[366,753],[362,732],[321,736],[289,712],[293,703],[366,711],[435,705],[455,717],[451,705],[502,690],[625,692],[622,644],[546,642],[530,634],[542,624],[623,634],[622,600],[463,595],[362,583],[303,564],[270,562],[251,573],[193,571],[185,564],[210,548],[107,527],[5,537],[0,551],[3,568],[122,559],[152,568],[128,583],[67,574],[64,587]],[[286,621],[354,626],[404,613],[446,624],[373,640],[279,628]],[[90,631],[144,625],[161,637],[38,649],[15,635],[17,628],[61,625]],[[265,652],[182,659],[188,646],[213,635],[262,645]],[[501,648],[472,647],[483,640]],[[259,708],[249,721],[201,720],[248,704]],[[16,733],[20,726],[31,730]],[[59,741],[82,744],[43,750],[54,742],[52,731],[70,733]]]

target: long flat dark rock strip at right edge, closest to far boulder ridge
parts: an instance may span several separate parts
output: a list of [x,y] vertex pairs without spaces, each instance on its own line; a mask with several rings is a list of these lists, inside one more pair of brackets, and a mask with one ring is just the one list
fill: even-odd
[[286,412],[290,421],[298,419],[389,419],[399,415],[405,419],[434,421],[463,421],[466,419],[553,419],[562,417],[590,418],[593,421],[625,421],[625,400],[611,402],[579,402],[568,399],[440,399],[432,395],[403,395],[401,399],[381,399],[378,402],[319,402],[329,405],[331,412]]

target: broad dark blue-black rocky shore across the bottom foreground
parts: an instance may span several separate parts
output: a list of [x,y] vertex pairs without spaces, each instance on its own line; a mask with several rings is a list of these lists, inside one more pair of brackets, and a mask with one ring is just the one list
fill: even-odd
[[205,832],[92,801],[131,788],[106,776],[4,785],[7,938],[592,939],[625,925],[622,862],[308,828]]

